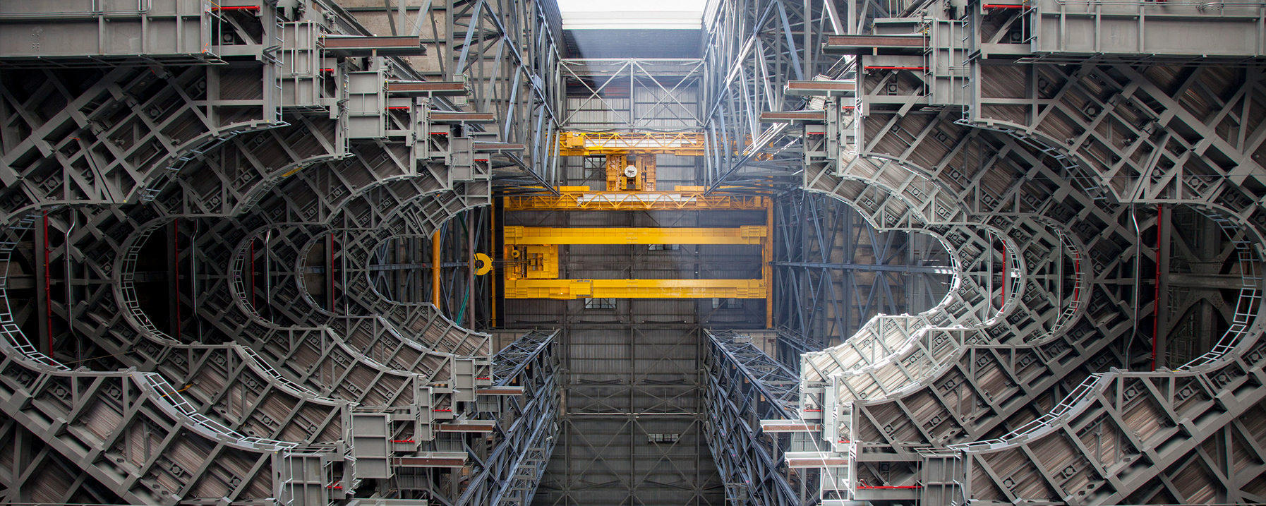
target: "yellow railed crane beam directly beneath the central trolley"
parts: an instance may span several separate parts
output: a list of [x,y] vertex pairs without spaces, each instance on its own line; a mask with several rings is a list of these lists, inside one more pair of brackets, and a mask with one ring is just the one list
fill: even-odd
[[674,191],[590,191],[587,186],[560,186],[558,195],[508,195],[506,211],[644,211],[644,210],[765,210],[760,195],[704,195],[701,186]]

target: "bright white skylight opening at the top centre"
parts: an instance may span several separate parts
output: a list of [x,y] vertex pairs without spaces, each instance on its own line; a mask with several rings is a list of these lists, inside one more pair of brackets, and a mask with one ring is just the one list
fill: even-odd
[[698,30],[708,0],[558,0],[565,30]]

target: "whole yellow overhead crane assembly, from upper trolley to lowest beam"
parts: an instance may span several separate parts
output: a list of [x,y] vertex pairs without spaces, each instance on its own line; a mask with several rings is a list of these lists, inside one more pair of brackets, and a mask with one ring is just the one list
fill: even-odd
[[[772,324],[774,207],[767,196],[708,194],[703,186],[656,190],[656,156],[706,154],[703,133],[562,132],[558,156],[606,157],[606,188],[561,186],[557,195],[503,197],[506,211],[746,210],[763,211],[766,225],[730,229],[618,228],[504,229],[505,299],[765,299],[766,326]],[[562,244],[758,244],[758,280],[558,280]]]

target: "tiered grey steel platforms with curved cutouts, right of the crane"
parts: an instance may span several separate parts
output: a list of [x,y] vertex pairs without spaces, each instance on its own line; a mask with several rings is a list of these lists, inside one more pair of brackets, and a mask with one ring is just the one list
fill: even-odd
[[[825,46],[860,54],[858,99],[843,102],[857,109],[827,97],[804,115],[805,187],[880,228],[986,226],[1006,244],[1014,291],[995,318],[953,330],[961,340],[913,333],[828,371],[808,354],[800,416],[820,420],[813,433],[832,448],[789,459],[837,477],[823,481],[824,503],[1260,501],[1266,170],[1244,120],[1258,109],[1260,62],[1194,40],[1146,63],[1120,48],[1036,52],[1057,40],[1041,28],[1055,19],[1046,4],[910,13],[923,18],[874,23],[886,38]],[[1174,37],[1214,29],[1204,16],[1260,20],[1191,13]],[[1182,252],[1166,214],[1209,223],[1210,250]],[[1175,250],[1180,264],[1204,256],[1232,276],[1201,283],[1227,288],[1225,326],[1205,325],[1206,353],[1169,369],[1156,366],[1163,321],[1190,300]],[[823,353],[861,352],[874,335]]]

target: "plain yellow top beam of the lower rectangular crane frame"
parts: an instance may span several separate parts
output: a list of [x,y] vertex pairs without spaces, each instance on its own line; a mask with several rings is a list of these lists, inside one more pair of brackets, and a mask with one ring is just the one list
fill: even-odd
[[506,226],[505,245],[527,244],[762,244],[765,225],[742,228]]

